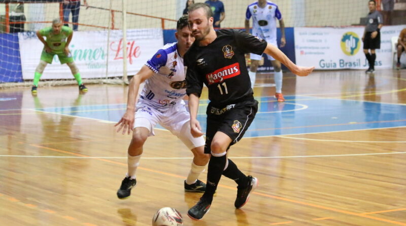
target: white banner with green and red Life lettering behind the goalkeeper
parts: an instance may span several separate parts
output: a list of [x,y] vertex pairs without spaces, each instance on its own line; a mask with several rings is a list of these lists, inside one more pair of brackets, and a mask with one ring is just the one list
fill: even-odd
[[[106,67],[108,77],[123,75],[122,31],[111,30],[109,43],[107,35],[105,30],[74,31],[69,49],[82,78],[104,78]],[[34,32],[19,33],[18,40],[23,79],[33,79],[44,45]],[[136,74],[162,46],[160,28],[127,30],[127,74]],[[41,78],[69,79],[73,76],[69,67],[60,64],[55,55]]]

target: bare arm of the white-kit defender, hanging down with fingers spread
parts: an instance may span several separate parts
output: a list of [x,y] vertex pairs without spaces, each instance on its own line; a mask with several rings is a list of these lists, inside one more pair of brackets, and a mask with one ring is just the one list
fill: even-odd
[[136,111],[136,101],[140,84],[150,78],[153,74],[154,72],[144,65],[137,75],[132,77],[128,87],[127,110],[120,121],[114,125],[120,125],[117,132],[122,130],[122,134],[125,134],[126,131],[128,134],[131,133],[132,128],[134,127],[134,113]]

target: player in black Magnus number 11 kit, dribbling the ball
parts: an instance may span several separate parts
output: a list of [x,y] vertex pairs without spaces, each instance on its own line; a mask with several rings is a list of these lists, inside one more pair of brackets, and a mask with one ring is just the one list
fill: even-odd
[[209,210],[221,175],[238,184],[235,208],[242,207],[250,192],[258,184],[252,176],[244,175],[226,157],[228,148],[238,142],[247,131],[258,109],[254,100],[250,77],[245,64],[245,53],[273,56],[294,74],[306,76],[314,67],[298,67],[278,47],[251,36],[245,31],[213,29],[210,7],[196,3],[189,7],[189,28],[195,42],[185,54],[187,67],[186,92],[189,95],[190,127],[193,136],[201,136],[196,119],[203,84],[209,88],[205,152],[211,154],[206,192],[188,211],[192,219],[201,219]]

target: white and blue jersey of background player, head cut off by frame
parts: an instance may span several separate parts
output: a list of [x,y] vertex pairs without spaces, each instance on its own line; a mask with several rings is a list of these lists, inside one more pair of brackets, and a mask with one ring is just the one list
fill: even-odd
[[250,20],[251,16],[252,35],[276,43],[276,19],[282,19],[278,6],[267,1],[265,7],[260,8],[258,2],[252,3],[247,8],[245,18]]

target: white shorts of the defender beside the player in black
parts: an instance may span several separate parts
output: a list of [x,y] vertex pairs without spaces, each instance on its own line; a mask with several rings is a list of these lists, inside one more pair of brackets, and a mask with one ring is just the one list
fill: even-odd
[[204,146],[203,136],[194,138],[190,133],[189,120],[190,114],[184,105],[168,108],[166,112],[162,113],[140,101],[137,104],[134,128],[148,128],[149,136],[154,136],[154,127],[159,123],[177,136],[189,149]]

